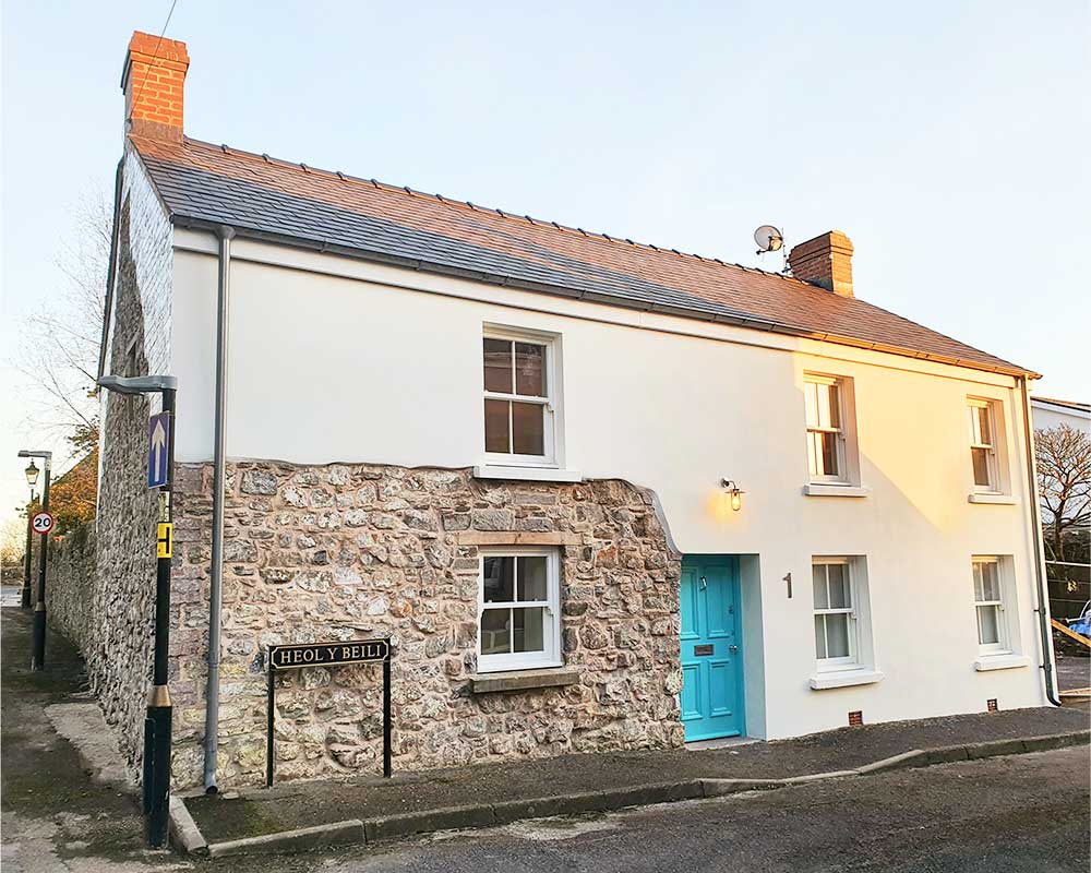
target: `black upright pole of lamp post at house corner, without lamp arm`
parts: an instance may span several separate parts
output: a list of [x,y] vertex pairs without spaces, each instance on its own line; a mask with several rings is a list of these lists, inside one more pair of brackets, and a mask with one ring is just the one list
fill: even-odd
[[[159,522],[166,524],[170,524],[171,519],[170,499],[175,476],[175,394],[173,388],[164,388],[161,392],[163,411],[167,414],[170,424],[167,429],[167,481],[159,489]],[[49,481],[48,478],[46,481]],[[158,536],[156,539],[158,540]],[[153,848],[167,845],[170,803],[171,705],[170,691],[167,687],[170,648],[170,560],[169,554],[163,557],[161,552],[156,559],[155,657],[152,667],[152,691],[147,698],[147,717],[144,721],[144,749],[151,749],[152,752],[151,764],[148,762],[144,764],[144,809],[147,811],[147,845]],[[151,778],[147,778],[148,776]]]

